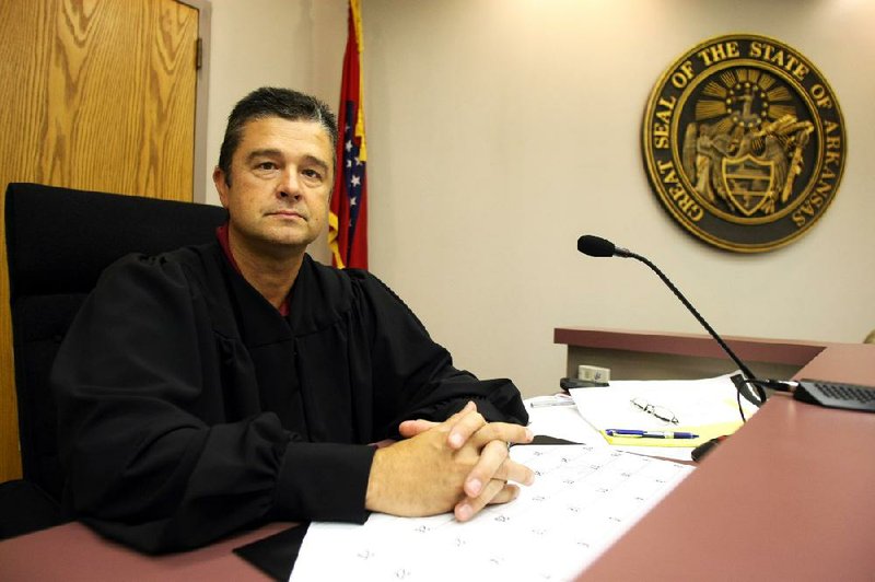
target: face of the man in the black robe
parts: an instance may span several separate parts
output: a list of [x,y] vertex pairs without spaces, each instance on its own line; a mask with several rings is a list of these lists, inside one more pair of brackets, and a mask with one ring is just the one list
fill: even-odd
[[224,172],[213,172],[234,240],[255,253],[303,252],[328,220],[332,159],[316,121],[248,121],[231,160],[231,185]]

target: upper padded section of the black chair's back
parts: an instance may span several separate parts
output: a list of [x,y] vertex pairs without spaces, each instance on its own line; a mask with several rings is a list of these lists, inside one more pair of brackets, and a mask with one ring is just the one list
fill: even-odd
[[10,298],[88,293],[119,257],[210,242],[226,219],[215,206],[12,183],[5,196]]

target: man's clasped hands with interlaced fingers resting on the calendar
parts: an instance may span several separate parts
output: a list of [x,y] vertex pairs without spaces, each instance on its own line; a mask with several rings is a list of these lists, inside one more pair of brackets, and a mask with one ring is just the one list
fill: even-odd
[[[420,421],[415,421],[420,422]],[[450,439],[464,427],[464,442]],[[508,443],[528,442],[525,427],[488,423],[472,405],[438,424],[418,426],[410,439],[374,455],[365,507],[394,515],[423,516],[454,511],[466,521],[485,505],[516,498],[532,470],[508,456]]]

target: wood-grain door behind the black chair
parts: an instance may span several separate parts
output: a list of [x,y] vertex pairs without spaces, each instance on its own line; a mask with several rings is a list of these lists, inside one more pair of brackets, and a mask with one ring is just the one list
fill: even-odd
[[[36,182],[190,201],[197,38],[198,11],[176,0],[0,0],[0,193]],[[21,476],[4,220],[0,257],[4,481]]]

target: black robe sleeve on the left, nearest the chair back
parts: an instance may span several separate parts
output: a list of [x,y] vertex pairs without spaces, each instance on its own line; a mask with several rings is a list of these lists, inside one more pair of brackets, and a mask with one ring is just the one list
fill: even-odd
[[83,304],[51,373],[67,507],[149,552],[270,519],[363,521],[373,447],[229,409],[197,289],[179,264],[133,257]]

